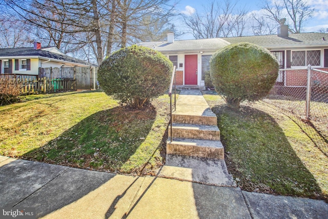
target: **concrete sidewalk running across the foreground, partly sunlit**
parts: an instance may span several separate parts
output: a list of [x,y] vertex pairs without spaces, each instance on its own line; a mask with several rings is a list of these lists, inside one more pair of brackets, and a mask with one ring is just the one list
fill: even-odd
[[324,201],[4,156],[0,194],[0,207],[34,207],[44,218],[328,218]]

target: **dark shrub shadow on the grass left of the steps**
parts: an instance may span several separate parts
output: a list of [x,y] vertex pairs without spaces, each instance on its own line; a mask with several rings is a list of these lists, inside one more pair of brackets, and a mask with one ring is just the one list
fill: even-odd
[[[155,119],[156,109],[151,106],[142,110],[115,107],[100,111],[23,158],[115,173],[138,171],[149,161],[152,149],[158,148],[158,144],[147,142]],[[150,154],[140,151],[145,144],[149,144]],[[131,162],[136,152],[140,154]]]

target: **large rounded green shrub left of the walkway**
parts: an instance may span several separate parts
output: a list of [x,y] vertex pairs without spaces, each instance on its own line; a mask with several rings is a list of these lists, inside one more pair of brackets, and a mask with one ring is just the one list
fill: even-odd
[[108,95],[133,108],[142,108],[169,88],[172,62],[142,46],[122,48],[99,66],[98,81]]

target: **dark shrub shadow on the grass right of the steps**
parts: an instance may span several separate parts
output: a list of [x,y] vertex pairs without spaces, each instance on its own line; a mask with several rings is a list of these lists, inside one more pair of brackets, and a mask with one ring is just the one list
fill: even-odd
[[[324,198],[275,119],[260,110],[241,106],[234,111],[215,106],[228,170],[247,191]],[[325,197],[326,198],[326,197]]]

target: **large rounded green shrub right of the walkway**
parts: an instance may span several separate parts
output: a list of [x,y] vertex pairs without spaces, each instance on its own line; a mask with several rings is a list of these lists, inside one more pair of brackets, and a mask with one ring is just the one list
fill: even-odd
[[270,51],[250,43],[232,44],[210,60],[212,83],[231,108],[242,101],[268,95],[278,77],[279,65]]

